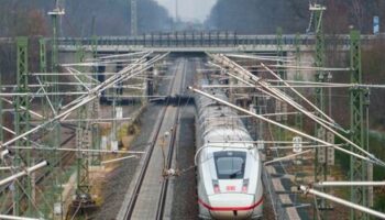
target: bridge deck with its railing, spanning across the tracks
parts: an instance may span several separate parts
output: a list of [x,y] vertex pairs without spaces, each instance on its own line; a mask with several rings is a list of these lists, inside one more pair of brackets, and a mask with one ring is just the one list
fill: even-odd
[[[362,44],[384,38],[383,35],[362,35]],[[294,52],[297,45],[301,51],[314,51],[315,36],[283,35],[283,50]],[[162,33],[139,36],[66,37],[59,38],[62,52],[73,52],[82,45],[86,50],[97,46],[99,52],[275,52],[276,35],[238,35],[235,33]],[[326,44],[337,45],[340,51],[350,48],[349,35],[327,35]]]

